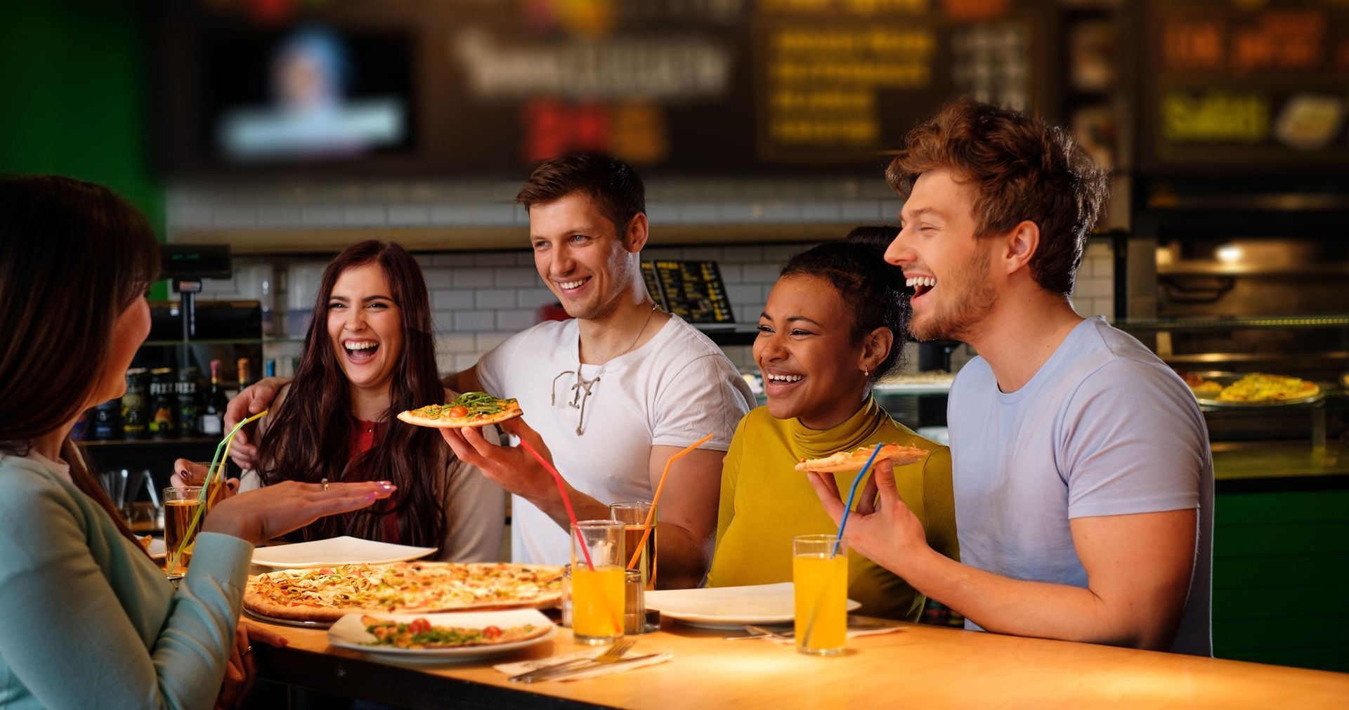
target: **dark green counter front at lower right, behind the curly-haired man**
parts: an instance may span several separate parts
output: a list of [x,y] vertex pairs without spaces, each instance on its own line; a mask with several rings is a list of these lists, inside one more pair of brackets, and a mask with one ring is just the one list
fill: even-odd
[[1349,672],[1349,490],[1214,501],[1213,652]]

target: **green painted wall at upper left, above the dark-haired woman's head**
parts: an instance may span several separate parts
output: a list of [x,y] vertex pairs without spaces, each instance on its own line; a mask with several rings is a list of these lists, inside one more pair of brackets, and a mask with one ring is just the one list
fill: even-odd
[[144,210],[163,240],[165,191],[150,167],[147,5],[40,0],[5,7],[0,171],[107,185]]

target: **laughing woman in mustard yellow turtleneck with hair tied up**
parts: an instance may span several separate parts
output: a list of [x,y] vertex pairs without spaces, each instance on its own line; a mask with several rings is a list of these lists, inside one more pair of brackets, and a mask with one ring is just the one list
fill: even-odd
[[[722,465],[708,586],[791,582],[792,538],[838,529],[796,462],[880,442],[931,451],[897,466],[894,481],[928,544],[958,559],[950,449],[900,424],[871,397],[905,341],[904,273],[884,260],[894,232],[858,228],[847,241],[799,253],[773,286],[754,341],[768,406],[745,415]],[[857,472],[836,476],[847,490]],[[908,621],[925,601],[853,551],[849,598],[862,602],[861,614]]]

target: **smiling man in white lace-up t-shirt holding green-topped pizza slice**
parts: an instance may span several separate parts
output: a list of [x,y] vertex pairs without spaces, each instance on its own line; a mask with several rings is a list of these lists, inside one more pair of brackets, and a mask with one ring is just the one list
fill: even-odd
[[[646,292],[645,190],[629,166],[563,155],[530,175],[517,202],[529,209],[538,275],[572,319],[511,335],[447,387],[519,400],[523,419],[500,427],[552,451],[579,520],[608,519],[612,503],[649,503],[669,457],[711,434],[670,467],[658,511],[657,583],[696,586],[712,558],[722,458],[754,403],[749,385],[707,335]],[[513,493],[513,559],[568,562],[569,521],[552,476],[478,430],[441,432]]]

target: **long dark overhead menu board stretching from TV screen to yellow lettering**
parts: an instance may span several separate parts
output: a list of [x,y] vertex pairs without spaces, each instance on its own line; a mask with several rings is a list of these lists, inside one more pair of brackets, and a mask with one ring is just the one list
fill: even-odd
[[[266,26],[248,3],[162,5],[175,172],[519,175],[602,150],[643,172],[874,174],[956,96],[1043,110],[1056,55],[1054,0],[335,0]],[[382,42],[402,42],[397,61]],[[343,67],[324,115],[272,96],[297,86],[278,78],[295,47]],[[313,127],[326,152],[267,143]]]

